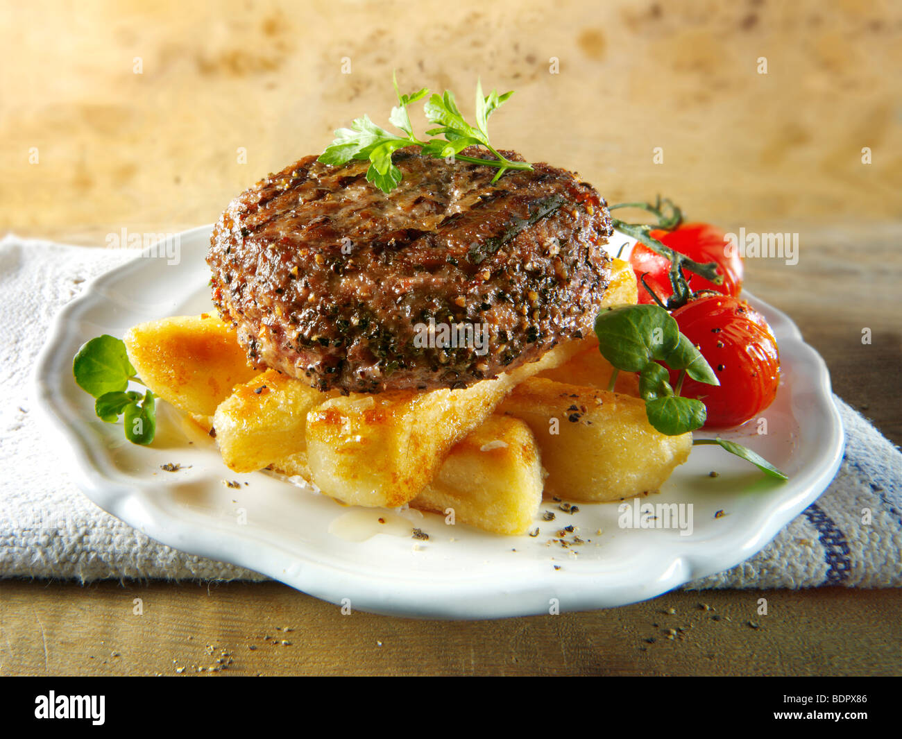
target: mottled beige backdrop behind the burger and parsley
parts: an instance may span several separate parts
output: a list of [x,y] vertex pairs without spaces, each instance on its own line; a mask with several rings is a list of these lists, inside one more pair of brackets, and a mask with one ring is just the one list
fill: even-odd
[[355,115],[387,123],[393,68],[468,115],[477,77],[515,89],[492,140],[610,201],[660,191],[729,227],[902,215],[898,3],[5,0],[0,27],[0,232],[212,221]]

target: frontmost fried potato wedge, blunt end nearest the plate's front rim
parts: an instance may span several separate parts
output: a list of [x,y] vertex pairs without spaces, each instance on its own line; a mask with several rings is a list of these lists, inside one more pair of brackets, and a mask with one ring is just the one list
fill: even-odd
[[523,421],[492,415],[451,449],[410,507],[446,515],[484,531],[520,534],[542,502],[536,440]]

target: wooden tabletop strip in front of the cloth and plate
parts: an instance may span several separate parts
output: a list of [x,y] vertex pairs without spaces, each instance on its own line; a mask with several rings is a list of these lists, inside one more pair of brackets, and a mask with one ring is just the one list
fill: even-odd
[[831,587],[440,622],[342,615],[275,583],[11,581],[0,675],[899,675],[900,608],[902,590]]

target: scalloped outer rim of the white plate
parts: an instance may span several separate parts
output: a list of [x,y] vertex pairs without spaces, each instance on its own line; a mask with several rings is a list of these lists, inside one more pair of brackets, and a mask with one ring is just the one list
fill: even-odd
[[[198,226],[179,236],[184,242],[208,234],[211,227]],[[424,582],[392,573],[373,582],[359,577],[346,566],[299,557],[297,553],[269,540],[250,540],[250,543],[262,545],[262,550],[252,552],[244,546],[235,550],[235,538],[221,537],[221,531],[215,525],[189,529],[184,522],[173,518],[170,512],[154,503],[152,498],[143,495],[140,488],[135,489],[127,478],[111,474],[101,464],[104,449],[100,448],[92,434],[86,433],[87,423],[77,414],[70,413],[65,406],[60,406],[53,380],[60,377],[60,363],[70,377],[71,357],[61,356],[58,349],[66,328],[82,310],[106,300],[100,292],[101,288],[121,281],[140,269],[141,264],[141,258],[136,257],[86,283],[81,294],[66,304],[53,319],[32,374],[39,415],[65,440],[78,487],[100,508],[153,540],[189,554],[260,572],[335,604],[341,602],[343,594],[354,593],[354,607],[357,610],[420,618],[476,619],[547,613],[547,605],[538,608],[537,604],[539,601],[547,603],[549,593],[566,595],[566,606],[562,606],[562,611],[584,611],[645,600],[749,559],[824,492],[842,462],[842,420],[833,402],[830,376],[823,358],[805,344],[795,323],[785,313],[746,291],[744,297],[763,309],[775,325],[775,331],[782,335],[781,354],[792,354],[794,361],[814,370],[813,394],[829,424],[821,430],[826,432],[827,439],[820,454],[790,481],[796,492],[779,498],[774,496],[772,502],[762,505],[758,521],[750,526],[741,542],[728,548],[728,551],[722,547],[708,553],[687,552],[658,563],[654,571],[646,572],[644,577],[618,578],[620,582],[616,585],[606,580],[604,575],[569,571],[511,587],[510,583],[500,584],[492,575],[453,582]],[[152,318],[159,317],[148,317]],[[790,348],[791,352],[788,351]],[[147,485],[150,482],[144,486]],[[247,543],[245,540],[244,544]],[[359,605],[361,603],[363,605]]]

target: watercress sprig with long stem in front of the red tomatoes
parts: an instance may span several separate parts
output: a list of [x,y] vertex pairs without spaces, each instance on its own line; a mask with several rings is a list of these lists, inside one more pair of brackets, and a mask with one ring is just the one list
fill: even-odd
[[[704,402],[680,397],[683,380],[688,375],[699,383],[719,385],[720,382],[711,365],[679,330],[667,310],[657,305],[607,309],[595,319],[595,334],[599,351],[614,367],[608,390],[613,390],[621,370],[639,373],[645,414],[656,430],[667,436],[678,436],[704,426],[707,418]],[[670,374],[665,365],[679,372],[676,388],[670,385]],[[788,479],[764,457],[735,441],[695,439],[693,444],[717,444],[758,466],[769,476]]]

